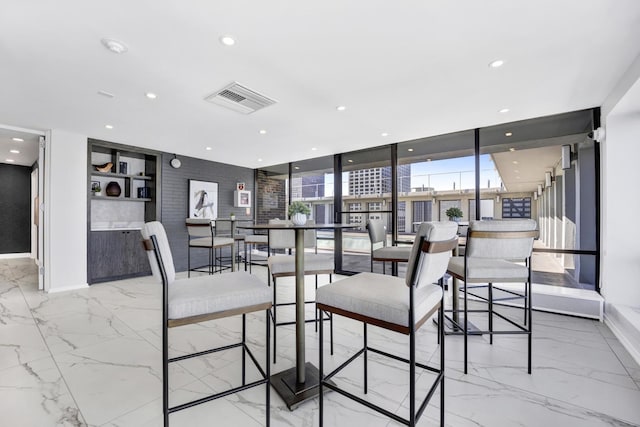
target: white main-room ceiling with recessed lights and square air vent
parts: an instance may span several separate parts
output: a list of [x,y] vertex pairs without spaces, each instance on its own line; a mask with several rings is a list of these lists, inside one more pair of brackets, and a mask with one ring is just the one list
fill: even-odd
[[4,0],[0,123],[254,168],[598,106],[639,40],[638,0]]

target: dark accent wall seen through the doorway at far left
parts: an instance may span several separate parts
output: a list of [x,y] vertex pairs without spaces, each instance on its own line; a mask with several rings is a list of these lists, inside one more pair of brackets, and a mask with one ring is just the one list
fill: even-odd
[[31,252],[31,167],[0,164],[0,254]]

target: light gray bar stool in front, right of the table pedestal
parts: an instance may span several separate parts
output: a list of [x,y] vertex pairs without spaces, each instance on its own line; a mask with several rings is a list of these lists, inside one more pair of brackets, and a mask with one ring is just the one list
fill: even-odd
[[[415,426],[424,413],[431,397],[440,387],[440,425],[444,426],[444,333],[442,321],[442,276],[447,269],[452,249],[458,244],[457,224],[451,221],[422,223],[411,248],[406,279],[375,273],[360,273],[339,282],[322,286],[316,295],[317,306],[329,313],[363,322],[363,347],[324,375],[323,322],[320,322],[320,426],[324,421],[324,388],[327,387],[374,411],[408,426]],[[436,285],[434,282],[438,282]],[[417,361],[416,331],[435,313],[438,313],[440,366],[434,368]],[[431,324],[426,323],[426,324]],[[409,336],[409,358],[391,354],[367,343],[367,325],[399,332]],[[371,351],[409,364],[409,418],[402,418],[390,409],[375,405],[356,396],[337,384],[335,375],[356,360],[364,358],[364,393],[367,389],[367,354]],[[416,368],[434,374],[426,397],[416,406]],[[395,408],[394,408],[395,409]]]

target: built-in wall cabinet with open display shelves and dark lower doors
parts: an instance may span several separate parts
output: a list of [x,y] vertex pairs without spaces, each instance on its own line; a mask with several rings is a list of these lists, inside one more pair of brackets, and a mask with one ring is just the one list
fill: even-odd
[[[160,153],[89,140],[87,158],[88,283],[151,273],[140,228],[160,220]],[[102,167],[111,164],[111,167]],[[98,170],[101,167],[102,170]],[[120,194],[107,194],[107,186]],[[101,192],[95,190],[100,188]]]

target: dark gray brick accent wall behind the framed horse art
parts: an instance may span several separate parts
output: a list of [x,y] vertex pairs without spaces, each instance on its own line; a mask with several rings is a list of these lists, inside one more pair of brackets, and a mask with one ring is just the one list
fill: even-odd
[[[245,208],[233,207],[233,192],[238,182],[246,184],[245,189],[252,192],[253,200],[253,169],[183,156],[179,156],[182,167],[174,169],[169,164],[171,159],[173,159],[173,154],[165,153],[162,155],[161,218],[169,238],[176,271],[185,271],[187,270],[188,250],[185,219],[189,210],[189,180],[218,183],[218,216],[220,218],[228,218],[231,213],[235,213],[238,220],[253,219],[255,206],[251,206],[250,215],[246,215]],[[192,266],[207,263],[208,252],[206,250],[192,250]]]

